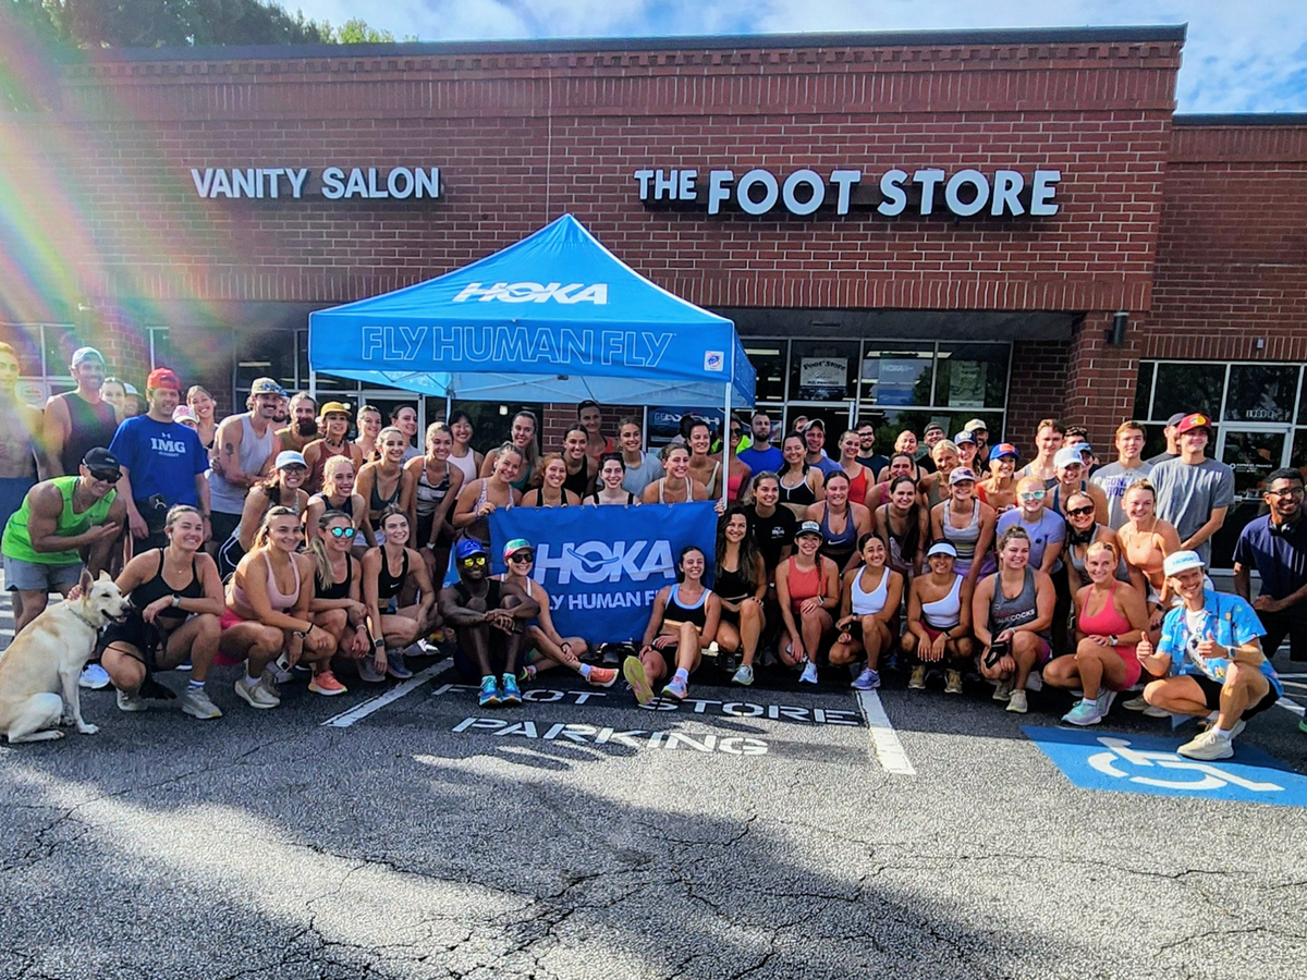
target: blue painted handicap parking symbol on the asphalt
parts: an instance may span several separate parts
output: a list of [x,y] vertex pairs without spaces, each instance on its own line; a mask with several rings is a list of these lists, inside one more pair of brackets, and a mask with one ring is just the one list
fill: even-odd
[[1242,742],[1221,762],[1185,759],[1184,740],[1023,725],[1022,732],[1081,789],[1307,806],[1307,776]]

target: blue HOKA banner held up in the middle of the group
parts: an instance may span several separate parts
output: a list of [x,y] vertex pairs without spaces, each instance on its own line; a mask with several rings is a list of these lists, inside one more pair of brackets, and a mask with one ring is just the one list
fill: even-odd
[[525,538],[536,547],[532,576],[549,592],[558,632],[618,643],[644,632],[657,591],[676,581],[682,547],[701,547],[711,571],[716,524],[711,502],[497,510],[493,564],[505,571],[505,542]]

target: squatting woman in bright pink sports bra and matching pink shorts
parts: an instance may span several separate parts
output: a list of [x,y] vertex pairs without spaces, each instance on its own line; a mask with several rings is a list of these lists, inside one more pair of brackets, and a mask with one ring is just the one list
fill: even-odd
[[1089,585],[1074,597],[1076,652],[1044,668],[1051,687],[1081,687],[1085,696],[1063,716],[1070,725],[1097,725],[1117,691],[1140,679],[1134,647],[1148,630],[1148,605],[1137,589],[1116,578],[1120,553],[1108,541],[1095,541],[1085,553]]

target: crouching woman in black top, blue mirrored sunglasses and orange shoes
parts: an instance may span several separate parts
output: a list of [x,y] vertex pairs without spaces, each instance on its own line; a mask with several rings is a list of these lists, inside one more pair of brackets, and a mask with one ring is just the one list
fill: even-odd
[[[336,638],[336,656],[357,662],[371,652],[367,639],[367,606],[363,605],[361,563],[350,554],[354,544],[354,521],[348,514],[327,511],[318,519],[308,541],[314,558],[314,597],[308,615],[314,625]],[[336,695],[345,685],[331,669],[314,676],[308,690]]]

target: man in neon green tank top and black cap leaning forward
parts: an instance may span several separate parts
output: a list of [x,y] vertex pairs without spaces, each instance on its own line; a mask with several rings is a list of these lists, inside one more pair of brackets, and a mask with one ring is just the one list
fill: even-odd
[[95,447],[77,476],[46,480],[27,491],[0,541],[5,588],[18,593],[14,634],[44,612],[51,592],[68,595],[84,561],[93,576],[106,567],[127,520],[127,506],[114,490],[122,474],[118,459]]

